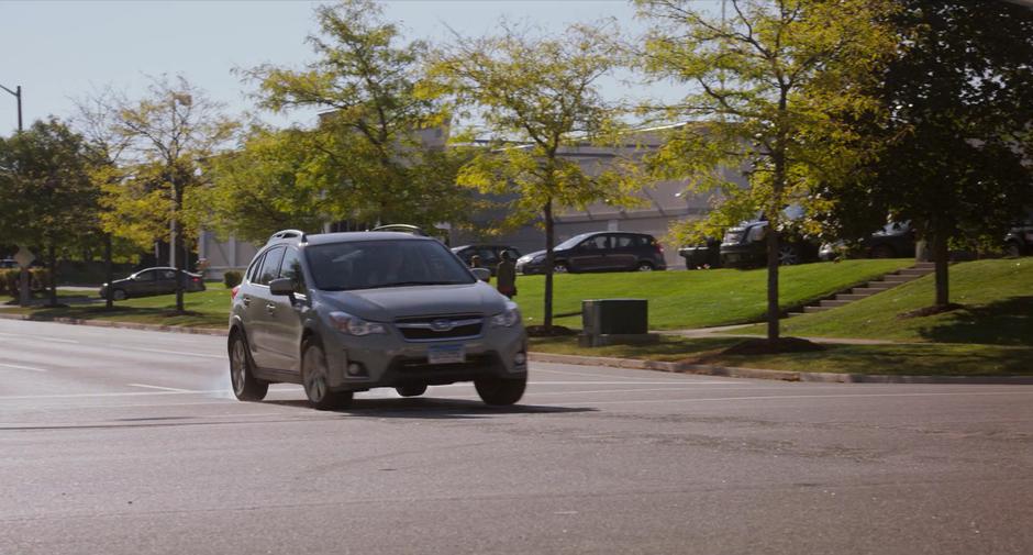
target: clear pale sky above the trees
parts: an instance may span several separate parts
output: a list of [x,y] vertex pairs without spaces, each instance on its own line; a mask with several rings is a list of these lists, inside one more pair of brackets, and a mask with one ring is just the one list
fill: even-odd
[[[12,1],[0,0],[0,85],[23,88],[25,125],[73,115],[73,99],[111,85],[136,97],[147,75],[182,74],[231,113],[251,109],[254,87],[231,70],[264,63],[299,67],[313,54],[308,1]],[[702,0],[701,3],[713,3]],[[413,38],[443,40],[451,26],[489,33],[501,16],[562,29],[576,21],[615,18],[641,31],[623,0],[404,0],[384,2],[389,19]],[[614,99],[625,91],[608,87]],[[0,90],[0,135],[18,125],[14,97]],[[278,123],[311,122],[297,113]]]

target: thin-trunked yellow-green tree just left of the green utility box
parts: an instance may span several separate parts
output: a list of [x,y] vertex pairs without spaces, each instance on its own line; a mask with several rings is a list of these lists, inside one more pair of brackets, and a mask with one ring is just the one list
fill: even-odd
[[[459,169],[460,186],[512,198],[511,223],[541,218],[545,227],[545,320],[552,326],[554,213],[563,207],[626,201],[629,175],[620,164],[587,171],[565,149],[612,134],[617,114],[600,95],[599,79],[617,65],[602,31],[571,26],[542,38],[501,25],[498,36],[465,38],[434,56],[427,93],[452,95],[474,107],[484,147]],[[595,174],[595,175],[593,175]]]

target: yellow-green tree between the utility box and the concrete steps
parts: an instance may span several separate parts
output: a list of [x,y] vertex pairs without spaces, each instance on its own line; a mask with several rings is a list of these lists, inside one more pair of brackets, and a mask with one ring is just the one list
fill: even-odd
[[[653,31],[635,62],[657,80],[690,86],[680,102],[660,107],[686,122],[649,163],[658,177],[688,177],[690,188],[720,192],[711,223],[763,212],[768,220],[767,337],[779,338],[778,252],[792,225],[791,204],[811,211],[830,199],[822,182],[848,175],[863,157],[848,125],[833,114],[878,109],[866,82],[891,34],[878,24],[888,10],[870,0],[731,0],[727,18],[688,0],[640,0]],[[743,168],[748,187],[722,168]]]

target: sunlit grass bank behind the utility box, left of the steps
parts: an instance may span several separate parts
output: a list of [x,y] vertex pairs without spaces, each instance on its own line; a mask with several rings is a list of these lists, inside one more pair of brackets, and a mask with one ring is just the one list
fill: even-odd
[[[779,273],[780,303],[784,308],[803,304],[912,264],[910,259],[846,260],[785,267]],[[545,278],[520,276],[516,287],[525,323],[541,324]],[[582,299],[647,299],[651,329],[679,330],[760,321],[766,296],[765,269],[565,274],[555,278],[553,314],[560,317],[557,324],[580,328]]]

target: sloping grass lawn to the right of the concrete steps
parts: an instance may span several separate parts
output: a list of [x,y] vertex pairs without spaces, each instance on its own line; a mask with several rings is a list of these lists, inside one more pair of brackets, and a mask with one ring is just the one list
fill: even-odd
[[[934,300],[933,276],[834,310],[782,321],[782,334],[907,342],[1033,346],[1033,258],[976,260],[951,266],[947,313],[901,318]],[[744,330],[764,333],[763,328]]]

